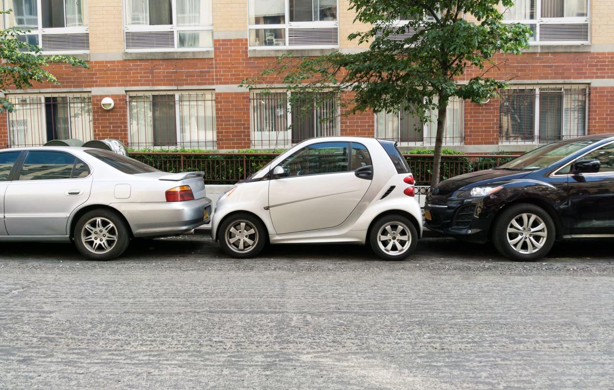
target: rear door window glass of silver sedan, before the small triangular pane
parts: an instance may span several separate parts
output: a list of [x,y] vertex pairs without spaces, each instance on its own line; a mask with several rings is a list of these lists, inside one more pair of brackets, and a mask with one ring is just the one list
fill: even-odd
[[63,152],[29,152],[23,162],[19,179],[70,179],[76,161],[76,157]]

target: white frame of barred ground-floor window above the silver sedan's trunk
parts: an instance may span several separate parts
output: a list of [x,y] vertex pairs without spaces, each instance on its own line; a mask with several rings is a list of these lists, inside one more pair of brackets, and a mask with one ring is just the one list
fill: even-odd
[[[212,101],[212,112],[213,112],[213,129],[212,129],[212,139],[211,140],[204,140],[202,141],[202,143],[205,144],[205,146],[200,147],[200,146],[196,146],[196,147],[192,147],[189,146],[188,148],[190,149],[202,149],[202,148],[206,148],[206,149],[216,149],[217,147],[217,113],[216,113],[216,92],[213,90],[200,90],[200,89],[187,89],[185,91],[181,91],[181,92],[177,92],[177,91],[139,91],[139,92],[129,92],[128,94],[126,94],[126,107],[127,107],[127,117],[128,117],[128,144],[132,144],[133,139],[132,139],[132,129],[131,129],[131,118],[130,118],[130,98],[131,97],[138,97],[138,96],[153,96],[153,95],[173,95],[174,96],[174,111],[175,111],[175,133],[176,133],[176,139],[177,139],[177,144],[176,145],[172,145],[172,144],[168,144],[168,145],[149,145],[149,146],[145,146],[145,148],[147,149],[168,149],[169,146],[175,146],[177,148],[182,148],[184,147],[184,143],[188,142],[188,141],[184,141],[183,137],[182,137],[182,133],[181,133],[181,99],[179,96],[181,95],[193,95],[193,94],[211,94],[211,96],[213,97],[212,100],[207,100],[205,99],[205,102],[209,102]],[[152,102],[152,100],[150,100],[150,102]],[[152,111],[153,114],[153,111]],[[152,130],[153,131],[153,130]],[[206,132],[206,129],[205,129]],[[142,143],[142,142],[140,142]],[[192,141],[192,143],[199,143],[198,140],[196,141]],[[206,143],[211,143],[211,146],[206,145]],[[136,144],[139,144],[139,141],[136,140]]]

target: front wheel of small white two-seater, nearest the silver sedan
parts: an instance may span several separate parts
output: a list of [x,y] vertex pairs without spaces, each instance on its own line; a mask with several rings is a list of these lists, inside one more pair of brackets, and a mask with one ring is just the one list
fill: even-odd
[[219,241],[231,257],[255,257],[265,246],[266,228],[251,214],[233,214],[220,223]]

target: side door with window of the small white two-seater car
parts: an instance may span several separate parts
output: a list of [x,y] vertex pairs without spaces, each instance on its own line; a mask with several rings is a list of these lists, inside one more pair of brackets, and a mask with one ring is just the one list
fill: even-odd
[[269,183],[269,211],[278,234],[340,225],[373,177],[368,150],[358,143],[313,143],[278,166],[284,174]]

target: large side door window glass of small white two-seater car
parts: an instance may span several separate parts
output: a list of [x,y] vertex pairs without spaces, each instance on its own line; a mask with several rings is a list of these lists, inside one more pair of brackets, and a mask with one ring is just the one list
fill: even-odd
[[286,177],[347,172],[348,149],[347,142],[315,143],[288,157],[280,166]]

